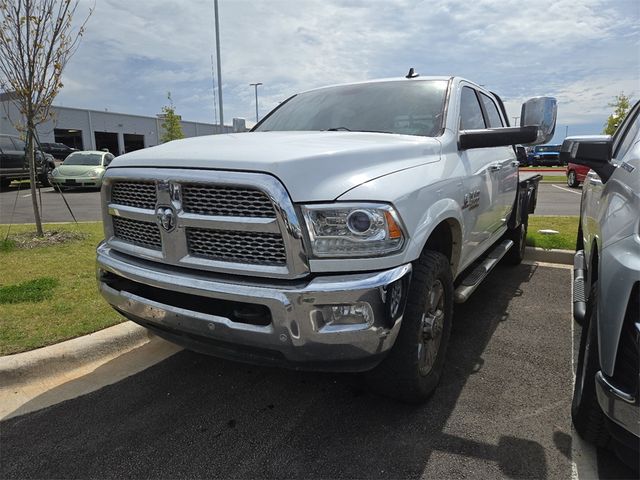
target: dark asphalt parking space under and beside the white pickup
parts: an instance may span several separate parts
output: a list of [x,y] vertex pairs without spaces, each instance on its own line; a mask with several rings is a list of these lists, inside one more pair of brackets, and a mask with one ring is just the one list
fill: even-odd
[[[422,406],[358,375],[181,351],[118,383],[6,420],[2,478],[593,478],[573,460],[570,270],[499,266],[456,308]],[[94,375],[98,375],[95,372]],[[600,478],[633,478],[607,452]]]

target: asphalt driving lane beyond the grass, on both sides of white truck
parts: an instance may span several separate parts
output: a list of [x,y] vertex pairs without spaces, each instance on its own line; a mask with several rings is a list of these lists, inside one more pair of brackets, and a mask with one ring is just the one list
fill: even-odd
[[[15,185],[15,184],[14,184]],[[536,215],[578,215],[582,190],[566,185],[541,184],[538,193]],[[71,222],[73,217],[59,193],[53,188],[43,188],[42,219],[44,222]],[[100,193],[95,190],[77,189],[64,192],[75,218],[82,221],[98,221]],[[28,186],[18,190],[12,186],[0,192],[0,223],[33,223],[33,207]]]

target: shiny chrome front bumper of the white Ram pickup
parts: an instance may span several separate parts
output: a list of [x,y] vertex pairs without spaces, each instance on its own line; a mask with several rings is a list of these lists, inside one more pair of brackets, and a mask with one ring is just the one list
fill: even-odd
[[267,283],[168,268],[101,244],[97,276],[116,310],[186,348],[252,363],[362,371],[395,342],[411,264]]

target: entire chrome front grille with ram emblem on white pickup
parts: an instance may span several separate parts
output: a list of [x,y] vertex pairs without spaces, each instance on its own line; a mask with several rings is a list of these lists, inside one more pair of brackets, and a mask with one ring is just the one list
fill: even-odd
[[309,271],[291,199],[270,175],[114,168],[104,185],[105,236],[116,250],[238,275]]

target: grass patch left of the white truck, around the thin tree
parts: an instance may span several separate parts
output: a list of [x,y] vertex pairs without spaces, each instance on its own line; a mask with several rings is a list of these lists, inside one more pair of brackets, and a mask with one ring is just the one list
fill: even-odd
[[[99,295],[95,247],[102,223],[45,225],[76,239],[23,248],[33,225],[0,225],[0,355],[23,352],[95,332],[123,321]],[[18,236],[14,236],[18,234]]]

